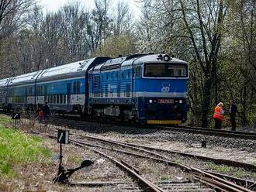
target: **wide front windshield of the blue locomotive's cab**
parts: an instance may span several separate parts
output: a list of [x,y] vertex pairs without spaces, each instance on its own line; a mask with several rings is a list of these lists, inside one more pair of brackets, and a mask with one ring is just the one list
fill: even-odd
[[144,77],[188,77],[185,63],[146,63]]

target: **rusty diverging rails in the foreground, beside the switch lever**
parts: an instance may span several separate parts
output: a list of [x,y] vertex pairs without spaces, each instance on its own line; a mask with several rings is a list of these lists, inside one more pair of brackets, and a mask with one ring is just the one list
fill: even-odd
[[[38,132],[37,132],[38,134]],[[51,138],[56,138],[54,135],[48,135],[48,134],[43,134],[46,135],[48,137]],[[77,135],[78,136],[78,135]],[[213,189],[218,189],[218,190],[223,190],[223,191],[251,191],[250,189],[247,189],[245,187],[248,187],[248,185],[251,185],[251,187],[253,187],[253,185],[255,183],[250,183],[249,181],[246,180],[240,180],[234,178],[234,177],[223,177],[223,175],[218,174],[218,173],[209,173],[205,170],[200,170],[198,168],[195,168],[193,166],[187,166],[185,164],[181,164],[181,163],[175,163],[172,162],[167,156],[163,156],[159,153],[155,153],[155,152],[150,152],[147,149],[143,149],[141,147],[138,146],[129,146],[126,143],[122,143],[122,142],[115,142],[115,141],[109,141],[106,139],[99,139],[99,138],[95,138],[95,137],[88,137],[85,135],[79,135],[80,139],[71,139],[71,142],[74,143],[77,146],[81,146],[81,147],[86,147],[88,149],[92,149],[93,151],[95,151],[95,153],[99,153],[102,156],[105,156],[108,159],[111,159],[114,163],[116,163],[118,166],[126,166],[126,170],[128,170],[130,172],[130,170],[133,170],[133,172],[130,172],[130,174],[133,175],[133,177],[137,177],[137,180],[140,180],[140,182],[144,183],[144,186],[147,186],[147,189],[150,189],[150,191],[165,191],[164,189],[166,189],[166,187],[159,187],[157,185],[155,185],[154,183],[149,183],[147,180],[144,180],[144,178],[140,178],[140,174],[136,173],[136,168],[133,168],[133,166],[129,166],[127,165],[127,163],[122,163],[122,162],[116,162],[116,159],[113,159],[112,157],[106,155],[105,153],[103,153],[102,151],[100,151],[99,149],[104,149],[106,151],[114,151],[116,153],[124,153],[126,155],[130,155],[130,156],[138,156],[140,158],[146,158],[146,159],[150,159],[153,161],[156,161],[158,163],[164,163],[166,165],[169,166],[177,166],[180,169],[184,170],[185,172],[191,173],[194,177],[194,181],[200,182],[200,183],[204,183],[206,186],[208,187],[212,187]],[[95,140],[97,141],[97,144],[93,144],[92,142],[85,142],[85,141],[81,141],[81,136],[85,137],[89,140]],[[72,136],[74,137],[74,135]],[[139,151],[140,153],[134,153],[134,152],[129,152],[125,149],[114,149],[113,146],[102,146],[99,143],[101,142],[105,142],[105,143],[111,143],[111,145],[115,145],[115,146],[122,146],[122,147],[126,147],[129,149],[133,149],[136,150],[137,152]],[[141,154],[141,152],[143,153],[147,153],[148,155],[144,155]],[[128,169],[127,169],[128,168]],[[139,176],[139,177],[138,177]],[[232,179],[232,182],[230,180],[227,179]],[[243,183],[243,182],[244,183]],[[236,183],[238,184],[236,184]],[[187,183],[186,183],[187,184]],[[244,187],[241,187],[240,185],[246,185]],[[195,185],[195,183],[193,183],[192,185]],[[189,185],[190,186],[190,185]],[[184,187],[184,186],[183,186]],[[249,186],[250,188],[250,186]],[[168,189],[168,187],[167,187]],[[202,190],[206,190],[207,188],[204,188]],[[187,191],[187,190],[185,190]],[[201,191],[201,190],[200,190]],[[209,190],[208,190],[209,191]]]

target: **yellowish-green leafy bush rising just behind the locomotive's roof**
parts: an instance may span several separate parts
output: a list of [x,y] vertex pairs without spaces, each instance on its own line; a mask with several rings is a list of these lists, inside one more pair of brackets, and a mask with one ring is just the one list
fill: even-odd
[[131,36],[112,36],[95,50],[95,56],[118,57],[135,52],[134,39]]

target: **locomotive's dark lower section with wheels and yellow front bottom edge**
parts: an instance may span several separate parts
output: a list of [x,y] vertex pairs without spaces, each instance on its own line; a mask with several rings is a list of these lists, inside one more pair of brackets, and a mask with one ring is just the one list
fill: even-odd
[[[147,101],[148,99],[143,98]],[[156,100],[154,100],[156,101]],[[183,100],[182,100],[183,101]],[[182,124],[187,120],[189,107],[184,104],[157,104],[140,102],[130,105],[93,104],[88,114],[95,118],[106,118],[142,124]]]

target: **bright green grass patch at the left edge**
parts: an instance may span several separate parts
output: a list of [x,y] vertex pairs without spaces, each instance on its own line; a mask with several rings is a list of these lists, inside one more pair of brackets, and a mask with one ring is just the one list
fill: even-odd
[[0,177],[15,176],[15,166],[47,163],[51,152],[43,147],[43,139],[6,128],[2,124],[7,121],[0,116]]

